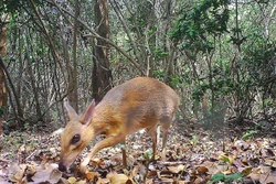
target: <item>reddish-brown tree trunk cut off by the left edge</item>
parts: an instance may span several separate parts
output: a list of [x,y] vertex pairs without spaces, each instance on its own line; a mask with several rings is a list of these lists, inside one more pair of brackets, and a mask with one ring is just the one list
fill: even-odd
[[[8,15],[6,17],[8,19]],[[7,55],[7,28],[0,20],[0,55]],[[1,58],[0,58],[1,59]],[[0,134],[3,132],[3,119],[7,113],[8,93],[6,86],[4,68],[0,67]]]

